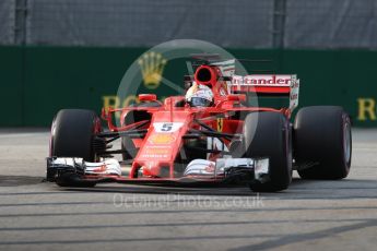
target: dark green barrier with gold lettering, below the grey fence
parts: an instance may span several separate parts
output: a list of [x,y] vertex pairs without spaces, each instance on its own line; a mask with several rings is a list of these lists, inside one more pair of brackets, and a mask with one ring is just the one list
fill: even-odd
[[[49,125],[61,108],[122,106],[116,98],[128,67],[146,48],[0,47],[1,127]],[[301,79],[301,106],[340,105],[357,127],[376,127],[377,51],[231,49],[237,58],[271,59],[261,64]],[[254,65],[255,67],[255,65]],[[168,61],[163,76],[181,85],[185,60]],[[130,83],[131,84],[131,83]],[[141,93],[160,96],[175,91],[160,85]],[[323,121],[326,122],[326,121]]]

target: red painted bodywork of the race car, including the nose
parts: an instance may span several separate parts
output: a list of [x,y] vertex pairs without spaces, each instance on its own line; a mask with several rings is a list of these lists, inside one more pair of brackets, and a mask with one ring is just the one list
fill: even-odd
[[[207,71],[207,72],[204,72]],[[209,73],[210,79],[205,81],[201,80],[200,73]],[[291,117],[290,108],[273,109],[263,107],[246,107],[241,104],[246,100],[245,94],[231,94],[232,89],[227,89],[226,82],[222,80],[221,71],[214,65],[201,65],[197,69],[195,74],[195,81],[198,84],[205,84],[210,86],[214,94],[214,105],[213,107],[207,108],[193,108],[189,105],[184,105],[182,107],[176,107],[176,104],[182,101],[184,96],[173,96],[168,97],[161,103],[160,107],[126,107],[121,109],[108,110],[103,109],[102,117],[108,123],[108,129],[110,132],[127,132],[128,130],[134,129],[138,125],[143,124],[141,129],[146,129],[146,134],[143,139],[133,139],[133,144],[139,152],[134,157],[131,170],[128,177],[113,177],[117,180],[125,181],[151,181],[158,178],[164,181],[178,180],[181,177],[177,176],[175,172],[175,159],[185,144],[185,135],[189,134],[192,130],[201,130],[201,123],[207,124],[213,130],[226,133],[226,134],[237,134],[243,133],[244,121],[239,119],[234,119],[233,115],[236,111],[274,111],[285,115],[287,118]],[[255,93],[273,93],[273,94],[290,94],[290,87],[247,87],[247,91]],[[154,101],[156,100],[155,95],[140,95],[141,101]],[[151,115],[151,120],[149,121],[138,121],[132,124],[125,124],[125,117],[130,111],[144,110]],[[120,113],[120,125],[116,127],[114,124],[115,113]],[[145,124],[146,122],[146,124]],[[161,128],[156,125],[165,127],[164,124],[174,124],[173,129],[167,131],[162,131]],[[158,125],[158,127],[160,127]],[[176,128],[174,128],[176,127]],[[229,140],[224,140],[224,143],[228,145]],[[209,156],[211,159],[215,159],[217,154],[212,153]],[[138,171],[142,167],[142,177],[138,177]],[[162,176],[162,174],[165,174]],[[163,177],[163,178],[162,178]],[[97,178],[97,177],[86,177]],[[214,181],[214,179],[209,180],[203,178],[203,180]]]

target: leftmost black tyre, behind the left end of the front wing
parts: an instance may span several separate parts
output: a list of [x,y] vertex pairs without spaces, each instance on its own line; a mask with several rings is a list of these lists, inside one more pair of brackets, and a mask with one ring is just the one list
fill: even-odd
[[93,139],[101,131],[99,118],[92,110],[60,110],[51,128],[50,155],[81,157],[95,162]]

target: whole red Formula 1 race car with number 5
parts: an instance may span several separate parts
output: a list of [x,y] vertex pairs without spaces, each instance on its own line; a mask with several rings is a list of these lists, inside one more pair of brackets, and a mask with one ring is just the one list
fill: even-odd
[[[294,169],[305,179],[347,176],[351,123],[341,107],[302,108],[291,123],[298,104],[295,75],[228,75],[220,65],[201,64],[185,79],[188,87],[211,88],[210,107],[192,107],[185,96],[161,103],[154,94],[142,94],[138,105],[103,109],[106,131],[94,111],[60,110],[51,128],[47,180],[66,187],[247,184],[254,191],[280,191]],[[252,103],[261,96],[286,96],[290,105],[275,109]],[[121,147],[111,150],[118,139]]]

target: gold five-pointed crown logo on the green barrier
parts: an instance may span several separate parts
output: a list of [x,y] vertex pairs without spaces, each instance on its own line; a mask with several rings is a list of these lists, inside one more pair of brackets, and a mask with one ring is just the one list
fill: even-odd
[[167,60],[161,53],[151,51],[144,53],[138,61],[148,88],[157,88],[162,80]]

